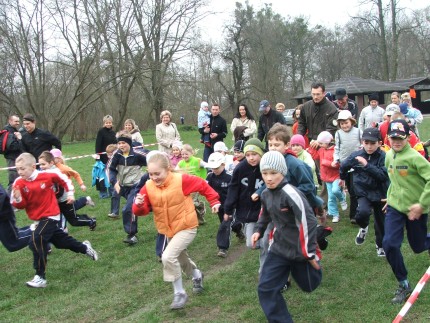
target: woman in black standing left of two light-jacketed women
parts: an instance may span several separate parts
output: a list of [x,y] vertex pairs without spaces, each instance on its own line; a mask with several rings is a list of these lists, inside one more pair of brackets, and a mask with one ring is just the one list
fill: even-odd
[[[116,144],[115,131],[112,129],[113,118],[111,115],[106,115],[103,117],[103,128],[99,129],[96,137],[96,154],[100,156],[100,161],[105,165],[109,160],[106,154],[106,147],[111,144]],[[61,149],[60,149],[61,150]],[[109,193],[107,187],[99,187],[99,197],[108,198]]]

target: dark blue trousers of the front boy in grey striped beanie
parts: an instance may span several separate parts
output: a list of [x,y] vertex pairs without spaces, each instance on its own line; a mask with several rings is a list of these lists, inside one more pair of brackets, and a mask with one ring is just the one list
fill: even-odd
[[321,269],[316,270],[308,261],[289,260],[269,251],[258,284],[258,299],[269,322],[293,322],[281,294],[290,273],[305,292],[312,292],[321,283]]

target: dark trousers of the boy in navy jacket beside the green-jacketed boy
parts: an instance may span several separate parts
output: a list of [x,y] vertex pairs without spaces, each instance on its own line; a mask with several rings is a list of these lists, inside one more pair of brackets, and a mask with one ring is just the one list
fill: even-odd
[[358,198],[357,212],[355,220],[360,228],[366,228],[369,225],[370,215],[373,209],[373,227],[375,229],[375,241],[378,248],[382,248],[382,239],[384,238],[384,221],[385,215],[382,211],[383,204],[380,201],[372,202],[366,197]]

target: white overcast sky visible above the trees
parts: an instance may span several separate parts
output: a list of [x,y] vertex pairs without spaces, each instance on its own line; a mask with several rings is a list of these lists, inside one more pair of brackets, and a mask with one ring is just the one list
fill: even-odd
[[[202,34],[204,37],[210,37],[215,41],[222,38],[221,27],[225,22],[231,20],[236,2],[245,4],[245,0],[209,0],[210,10],[218,13],[203,21],[205,27],[202,28]],[[302,15],[309,18],[312,26],[321,24],[327,27],[333,27],[336,23],[345,24],[350,16],[359,12],[360,2],[363,0],[248,0],[255,11],[263,8],[265,3],[271,3],[273,11],[284,17]],[[421,9],[428,5],[428,0],[400,0],[400,6],[408,10]]]

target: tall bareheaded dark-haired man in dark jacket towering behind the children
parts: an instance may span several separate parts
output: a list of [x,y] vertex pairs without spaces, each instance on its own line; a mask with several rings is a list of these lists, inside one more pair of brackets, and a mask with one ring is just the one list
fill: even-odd
[[308,136],[310,146],[317,149],[318,134],[323,131],[330,132],[333,136],[337,130],[336,106],[325,97],[325,85],[312,83],[312,100],[307,101],[301,110],[299,117],[298,133]]

